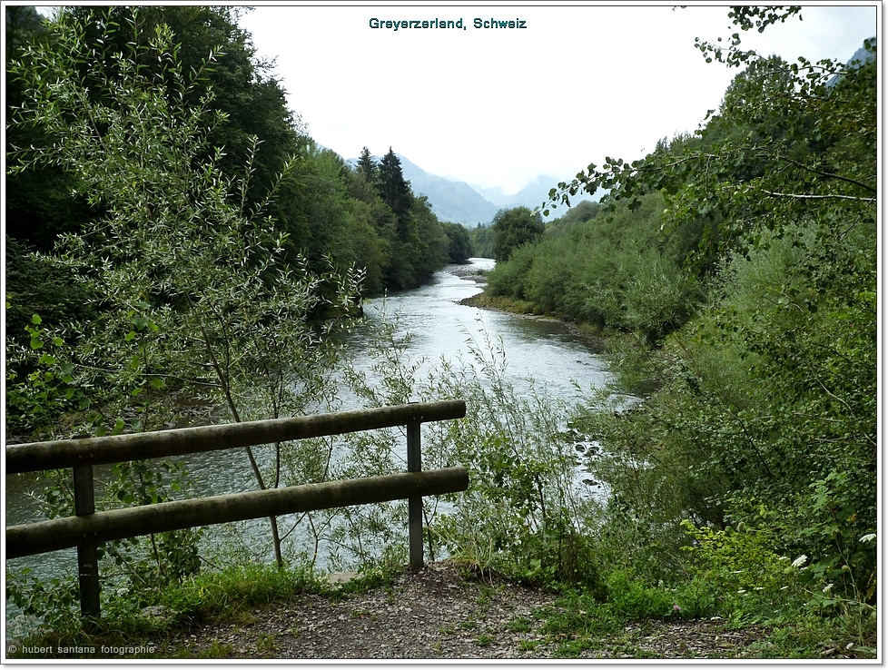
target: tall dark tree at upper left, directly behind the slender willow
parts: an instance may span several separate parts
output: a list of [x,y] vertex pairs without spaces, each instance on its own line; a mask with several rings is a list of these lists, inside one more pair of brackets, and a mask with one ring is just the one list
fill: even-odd
[[[7,24],[14,27],[13,34],[23,36],[14,37],[7,45],[7,62],[22,44],[37,38],[52,39],[51,34],[35,32],[33,19],[27,22],[22,19],[20,15],[25,11],[24,7],[7,7],[6,10]],[[212,66],[203,71],[202,81],[195,83],[186,99],[189,103],[198,103],[206,86],[212,85],[214,95],[210,108],[226,113],[228,121],[212,129],[211,143],[225,147],[220,165],[229,176],[248,160],[252,146],[250,138],[260,139],[259,148],[252,156],[252,192],[247,194],[248,201],[255,205],[269,191],[272,182],[277,181],[277,175],[291,154],[299,153],[305,146],[305,133],[299,119],[287,108],[280,83],[269,74],[271,65],[255,59],[250,35],[237,25],[238,11],[229,7],[173,5],[141,7],[138,12],[123,5],[70,7],[67,10],[69,20],[83,29],[86,42],[109,41],[105,43],[107,54],[121,52],[127,44],[141,45],[133,57],[144,71],[158,73],[161,67],[145,57],[143,48],[146,35],[152,34],[157,25],[168,25],[172,29],[173,41],[178,43],[177,57],[186,70],[200,68],[206,54],[216,53]],[[39,21],[36,25],[39,26]],[[132,29],[107,34],[107,25],[131,25]],[[110,61],[105,65],[109,71],[113,70]],[[84,76],[91,95],[101,91],[98,82],[89,80],[86,64],[77,64],[75,69]],[[15,78],[10,78],[7,82],[9,104],[17,104],[17,90]],[[7,151],[13,146],[34,143],[28,139],[28,134],[23,133],[35,133],[35,129],[21,124],[11,129],[7,136]],[[53,166],[11,175],[6,185],[7,218],[11,222],[7,232],[15,239],[49,251],[59,232],[78,231],[87,219],[100,216],[101,212],[95,212],[83,199],[68,197],[76,189],[71,180],[70,173]],[[281,230],[288,231],[291,213],[283,204],[272,202],[269,207]]]

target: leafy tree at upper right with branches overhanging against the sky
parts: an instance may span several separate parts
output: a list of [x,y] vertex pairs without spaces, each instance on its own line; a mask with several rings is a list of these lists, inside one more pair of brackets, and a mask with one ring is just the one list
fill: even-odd
[[[743,30],[784,21],[798,7],[734,7],[730,16]],[[739,48],[735,33],[725,48],[697,40],[708,62],[745,65],[725,94],[720,113],[702,143],[683,142],[627,163],[607,157],[572,182],[549,192],[548,205],[569,204],[570,196],[607,190],[602,202],[661,191],[666,195],[667,231],[717,215],[704,235],[703,251],[724,251],[755,224],[779,230],[811,207],[842,207],[854,219],[875,207],[875,63],[840,64],[799,58],[787,64]],[[874,52],[874,44],[866,44]],[[838,82],[838,84],[835,84]],[[848,102],[853,97],[854,104]],[[707,119],[715,110],[707,114]],[[755,126],[755,132],[735,132]]]

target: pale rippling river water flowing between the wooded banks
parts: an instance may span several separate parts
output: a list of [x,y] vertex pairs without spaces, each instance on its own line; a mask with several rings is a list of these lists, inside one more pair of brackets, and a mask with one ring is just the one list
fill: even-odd
[[[408,333],[405,353],[411,360],[422,361],[419,369],[432,370],[443,360],[470,360],[470,350],[485,349],[486,342],[501,347],[508,380],[519,392],[533,386],[538,392],[565,399],[578,399],[580,389],[600,388],[607,382],[607,367],[597,356],[593,344],[556,320],[521,317],[505,312],[480,310],[459,304],[482,290],[479,271],[490,270],[494,261],[471,259],[469,266],[451,266],[439,271],[433,280],[418,289],[403,291],[365,303],[365,315],[372,323],[385,318],[395,323],[400,340]],[[475,275],[473,277],[473,275]],[[367,346],[359,330],[351,336],[350,348],[360,351]],[[369,368],[369,362],[367,363]],[[358,400],[345,393],[340,409],[357,409]],[[254,482],[242,449],[192,455],[185,466],[196,476],[196,490],[202,496],[252,490]],[[97,473],[101,475],[101,473]],[[33,488],[25,476],[6,477],[6,525],[38,520],[39,508],[27,496]],[[241,531],[246,545],[251,537],[257,542],[267,536],[267,521],[257,519]],[[267,542],[267,540],[266,540]],[[6,562],[7,571],[29,567],[43,579],[74,574],[76,551],[56,551]],[[7,603],[7,625],[14,608]]]

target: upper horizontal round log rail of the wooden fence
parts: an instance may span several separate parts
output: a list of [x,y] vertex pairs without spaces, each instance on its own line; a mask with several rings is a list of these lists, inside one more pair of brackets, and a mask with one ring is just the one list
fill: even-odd
[[465,416],[464,400],[441,400],[289,419],[226,423],[103,438],[31,442],[6,447],[6,473],[76,468],[143,458],[167,458],[203,451],[273,444],[291,439],[320,438],[359,430],[405,426],[410,423],[462,419]]

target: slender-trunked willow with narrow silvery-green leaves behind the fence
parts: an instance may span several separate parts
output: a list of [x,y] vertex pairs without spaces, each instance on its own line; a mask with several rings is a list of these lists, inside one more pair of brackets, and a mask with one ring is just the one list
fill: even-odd
[[[123,50],[104,45],[138,25],[136,13],[106,25],[108,40],[90,41],[63,9],[54,39],[10,64],[25,83],[14,123],[47,138],[15,153],[10,170],[57,165],[104,212],[66,234],[52,259],[76,272],[99,315],[33,328],[30,349],[11,358],[36,361],[30,382],[62,403],[79,399],[97,434],[156,428],[177,396],[222,404],[233,421],[304,413],[328,389],[337,348],[327,336],[350,310],[360,276],[319,276],[304,259],[282,261],[286,235],[265,207],[273,192],[252,206],[252,163],[237,178],[226,174],[210,143],[226,119],[211,109],[202,79],[214,54],[186,68],[162,24]],[[143,58],[158,69],[139,67]],[[257,485],[286,485],[284,446],[267,447],[271,469],[247,450]],[[281,565],[273,517],[271,532]]]

